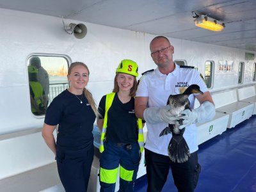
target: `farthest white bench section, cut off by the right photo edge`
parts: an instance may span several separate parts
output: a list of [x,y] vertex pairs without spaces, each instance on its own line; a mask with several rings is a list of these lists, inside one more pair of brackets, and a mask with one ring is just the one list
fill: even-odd
[[238,99],[242,102],[254,104],[253,115],[256,115],[256,93],[255,86],[246,86],[237,90]]

